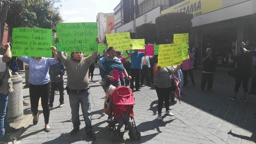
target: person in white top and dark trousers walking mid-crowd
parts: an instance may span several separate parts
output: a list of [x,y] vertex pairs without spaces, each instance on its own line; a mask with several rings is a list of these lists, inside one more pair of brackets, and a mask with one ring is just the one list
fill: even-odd
[[143,85],[144,78],[146,77],[146,83],[148,86],[150,86],[150,78],[149,78],[149,68],[150,68],[150,62],[149,62],[149,56],[143,56],[141,58],[141,71],[140,71],[140,85]]

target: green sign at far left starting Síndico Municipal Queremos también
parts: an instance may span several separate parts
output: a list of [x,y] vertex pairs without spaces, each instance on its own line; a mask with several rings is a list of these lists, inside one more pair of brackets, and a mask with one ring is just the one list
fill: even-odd
[[52,57],[52,30],[13,28],[12,56]]

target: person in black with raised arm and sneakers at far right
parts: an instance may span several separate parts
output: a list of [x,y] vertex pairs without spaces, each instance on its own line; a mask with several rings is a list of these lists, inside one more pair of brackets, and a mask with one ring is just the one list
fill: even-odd
[[241,83],[243,83],[243,89],[244,94],[243,97],[241,97],[241,101],[247,102],[246,95],[248,92],[248,82],[250,78],[250,63],[251,59],[250,57],[246,56],[244,53],[241,53],[239,55],[234,56],[231,59],[232,55],[229,53],[229,63],[232,64],[236,62],[237,68],[236,68],[236,84],[234,89],[233,96],[230,96],[230,100],[237,100],[237,93],[239,91],[239,87]]

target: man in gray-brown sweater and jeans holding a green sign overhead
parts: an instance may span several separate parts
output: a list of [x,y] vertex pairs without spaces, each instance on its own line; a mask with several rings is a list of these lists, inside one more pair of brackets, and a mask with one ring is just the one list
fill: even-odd
[[[100,38],[96,41],[100,43]],[[79,131],[79,105],[81,104],[83,118],[85,122],[86,136],[90,139],[96,139],[92,133],[92,114],[90,107],[90,87],[88,70],[89,66],[94,62],[98,52],[93,52],[88,57],[83,57],[82,52],[72,52],[72,58],[67,58],[63,52],[57,52],[58,58],[66,67],[67,73],[67,93],[69,95],[69,103],[72,114],[72,123],[74,129],[70,132],[71,135]]]

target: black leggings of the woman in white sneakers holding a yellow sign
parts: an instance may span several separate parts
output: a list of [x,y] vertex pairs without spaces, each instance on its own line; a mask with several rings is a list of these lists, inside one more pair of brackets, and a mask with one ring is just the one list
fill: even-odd
[[165,105],[165,110],[169,111],[169,96],[171,94],[171,88],[159,88],[155,86],[155,89],[158,97],[158,114],[162,113],[163,103]]

